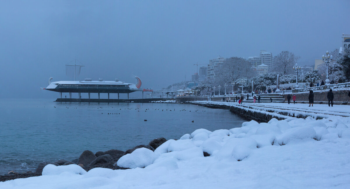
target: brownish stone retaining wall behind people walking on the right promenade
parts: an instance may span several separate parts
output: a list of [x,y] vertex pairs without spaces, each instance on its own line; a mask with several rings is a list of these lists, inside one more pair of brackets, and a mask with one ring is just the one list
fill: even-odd
[[[321,90],[321,91],[315,91],[314,92],[314,103],[328,103],[327,99],[327,93],[329,90]],[[335,89],[333,91],[334,99],[333,102],[337,102],[335,104],[347,104],[350,105],[350,97],[348,96],[349,90],[341,90],[341,89]],[[309,93],[293,93],[296,96],[296,102],[305,101],[306,103],[309,102]],[[287,101],[288,94],[281,94]],[[291,95],[292,96],[292,95]],[[293,99],[290,99],[293,102]]]

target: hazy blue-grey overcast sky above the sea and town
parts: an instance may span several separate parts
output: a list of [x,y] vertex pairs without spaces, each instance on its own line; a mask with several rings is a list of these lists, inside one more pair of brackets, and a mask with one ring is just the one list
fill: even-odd
[[[92,78],[159,89],[191,79],[194,64],[290,51],[312,65],[350,34],[350,1],[1,1],[0,98],[56,98],[40,90]],[[73,61],[74,62],[74,61]],[[137,93],[137,92],[136,92]]]

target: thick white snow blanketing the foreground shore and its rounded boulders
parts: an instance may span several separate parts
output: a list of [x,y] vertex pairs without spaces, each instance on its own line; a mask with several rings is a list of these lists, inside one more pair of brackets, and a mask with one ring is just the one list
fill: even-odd
[[[304,104],[298,105],[281,106]],[[315,110],[323,108],[317,106]],[[339,112],[348,111],[343,107]],[[47,165],[43,176],[0,182],[0,188],[345,189],[350,188],[349,127],[349,117],[332,116],[250,121],[213,132],[198,129],[154,152],[139,148],[117,162],[132,169],[85,172],[77,165]],[[211,155],[204,157],[203,151]]]

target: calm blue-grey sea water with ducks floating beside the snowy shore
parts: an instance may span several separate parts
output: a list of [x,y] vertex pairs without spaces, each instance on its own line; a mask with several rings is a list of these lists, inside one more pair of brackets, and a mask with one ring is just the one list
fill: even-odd
[[42,161],[73,160],[84,150],[125,151],[154,138],[179,139],[196,129],[231,129],[245,121],[229,110],[191,104],[49,99],[0,99],[0,115],[0,174],[33,171]]

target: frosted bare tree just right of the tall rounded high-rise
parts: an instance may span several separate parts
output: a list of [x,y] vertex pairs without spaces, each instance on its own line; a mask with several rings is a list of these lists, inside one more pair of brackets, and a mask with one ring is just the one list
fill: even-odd
[[275,57],[272,71],[283,72],[283,74],[292,73],[292,68],[299,58],[292,52],[282,51]]

